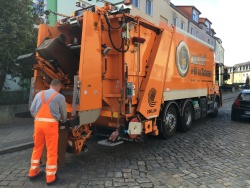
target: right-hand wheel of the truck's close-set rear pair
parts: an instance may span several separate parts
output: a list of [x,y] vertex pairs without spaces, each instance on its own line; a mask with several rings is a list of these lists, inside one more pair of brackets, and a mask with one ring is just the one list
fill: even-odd
[[193,105],[187,102],[184,106],[183,115],[180,122],[180,131],[187,132],[191,129],[194,117]]

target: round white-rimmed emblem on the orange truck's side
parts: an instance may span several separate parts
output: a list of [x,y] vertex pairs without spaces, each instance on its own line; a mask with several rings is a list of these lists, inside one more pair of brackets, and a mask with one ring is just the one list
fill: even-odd
[[189,68],[189,50],[184,41],[181,41],[176,49],[176,66],[179,74],[185,77]]

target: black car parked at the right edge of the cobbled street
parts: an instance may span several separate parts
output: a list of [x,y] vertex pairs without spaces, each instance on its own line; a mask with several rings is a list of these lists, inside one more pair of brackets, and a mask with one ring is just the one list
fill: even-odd
[[231,119],[250,118],[250,89],[242,90],[234,100],[231,110]]

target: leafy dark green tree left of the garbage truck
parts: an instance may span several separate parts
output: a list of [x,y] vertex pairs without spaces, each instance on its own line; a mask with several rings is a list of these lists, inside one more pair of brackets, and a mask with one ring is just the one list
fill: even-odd
[[17,66],[19,55],[35,50],[38,16],[33,10],[32,0],[0,0],[0,91],[7,74],[30,78],[30,67]]

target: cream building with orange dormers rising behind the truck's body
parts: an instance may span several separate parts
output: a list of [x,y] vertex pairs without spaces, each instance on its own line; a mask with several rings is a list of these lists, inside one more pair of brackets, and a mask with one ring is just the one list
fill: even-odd
[[212,22],[208,18],[200,17],[201,12],[195,6],[176,6],[166,0],[151,0],[151,6],[154,10],[153,13],[157,11],[157,14],[152,14],[151,17],[147,14],[145,15],[143,12],[147,9],[147,1],[132,0],[132,2],[134,6],[131,11],[132,15],[141,15],[156,25],[160,21],[168,25],[172,24],[213,46],[215,62],[218,63],[219,66],[219,85],[223,84],[224,48],[222,46],[222,40],[215,37],[216,32],[212,28]]

